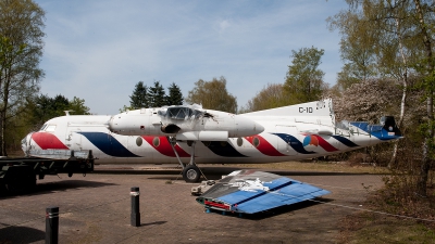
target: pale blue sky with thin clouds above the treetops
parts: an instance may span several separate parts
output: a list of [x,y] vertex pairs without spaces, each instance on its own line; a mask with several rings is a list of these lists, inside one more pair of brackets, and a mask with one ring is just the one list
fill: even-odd
[[135,85],[175,82],[184,98],[199,79],[225,77],[238,106],[284,84],[291,50],[324,50],[324,81],[343,62],[326,18],[339,0],[34,0],[46,11],[40,93],[85,100],[117,114]]

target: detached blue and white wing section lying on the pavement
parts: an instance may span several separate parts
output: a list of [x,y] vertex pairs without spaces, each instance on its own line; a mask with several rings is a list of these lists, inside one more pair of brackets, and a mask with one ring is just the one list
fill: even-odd
[[274,174],[240,170],[216,182],[197,202],[206,208],[256,214],[331,192]]

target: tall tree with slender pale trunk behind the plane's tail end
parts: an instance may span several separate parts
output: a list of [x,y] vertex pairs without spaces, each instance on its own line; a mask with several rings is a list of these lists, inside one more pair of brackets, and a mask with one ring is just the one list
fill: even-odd
[[[391,77],[401,80],[402,99],[400,102],[399,128],[406,113],[408,91],[409,60],[411,59],[413,31],[410,22],[410,1],[365,1],[359,7],[358,1],[348,11],[341,11],[334,18],[328,18],[331,27],[339,28],[341,37],[341,59],[347,63],[339,74],[337,85],[346,88],[349,85],[349,70],[363,76],[355,76],[359,80],[375,77]],[[411,40],[411,42],[410,42]],[[410,43],[411,44],[410,44]],[[355,55],[355,53],[364,55]],[[356,59],[363,56],[364,59]],[[346,77],[346,75],[348,76]],[[355,84],[355,82],[350,82]],[[390,167],[396,160],[398,142],[396,142]]]

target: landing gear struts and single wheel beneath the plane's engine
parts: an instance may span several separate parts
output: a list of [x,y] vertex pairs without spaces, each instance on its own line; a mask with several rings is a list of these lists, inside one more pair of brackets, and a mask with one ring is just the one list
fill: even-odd
[[183,179],[188,182],[188,183],[195,183],[199,182],[199,178],[201,178],[201,170],[198,168],[198,166],[195,164],[195,144],[196,141],[187,141],[187,144],[191,146],[191,153],[190,153],[190,162],[188,165],[184,165],[182,160],[179,159],[178,153],[175,150],[175,138],[170,138],[166,137],[167,140],[170,141],[171,147],[175,153],[175,156],[178,159],[179,165],[183,167]]

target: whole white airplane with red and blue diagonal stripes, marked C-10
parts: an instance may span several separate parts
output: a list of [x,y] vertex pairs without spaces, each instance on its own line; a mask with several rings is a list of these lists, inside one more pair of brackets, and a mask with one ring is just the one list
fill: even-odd
[[173,105],[55,117],[28,133],[22,149],[45,158],[92,150],[99,164],[179,164],[184,180],[197,182],[197,164],[299,160],[401,138],[393,116],[380,123],[336,123],[331,99],[238,115]]

